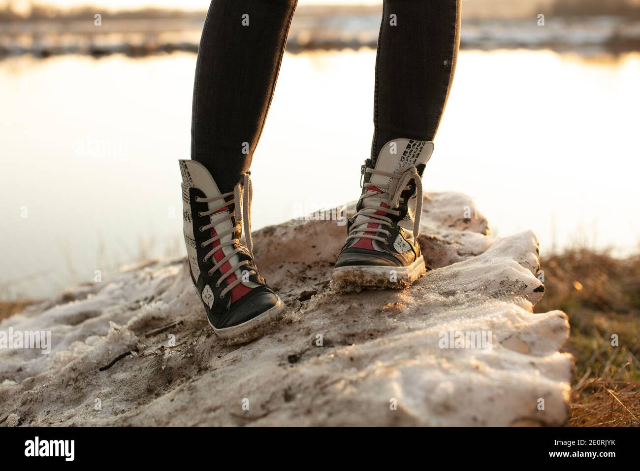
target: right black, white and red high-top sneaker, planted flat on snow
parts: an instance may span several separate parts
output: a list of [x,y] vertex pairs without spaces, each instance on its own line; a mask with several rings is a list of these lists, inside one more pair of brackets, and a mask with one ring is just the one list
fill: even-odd
[[362,165],[362,195],[349,219],[348,237],[333,269],[338,290],[403,288],[424,275],[418,235],[422,172],[433,142],[396,139],[374,167]]

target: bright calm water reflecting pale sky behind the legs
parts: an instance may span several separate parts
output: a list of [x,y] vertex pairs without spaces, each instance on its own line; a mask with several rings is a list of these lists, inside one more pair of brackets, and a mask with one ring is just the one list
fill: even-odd
[[[356,199],[374,51],[286,54],[252,165],[253,228]],[[0,62],[0,297],[42,297],[178,256],[195,56]],[[465,51],[428,190],[476,198],[541,250],[637,249],[640,54]]]

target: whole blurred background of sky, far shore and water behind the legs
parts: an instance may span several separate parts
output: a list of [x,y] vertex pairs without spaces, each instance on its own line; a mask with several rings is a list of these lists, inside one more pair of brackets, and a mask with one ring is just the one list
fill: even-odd
[[[184,251],[177,160],[209,3],[87,1],[0,0],[0,299]],[[300,0],[253,229],[358,197],[380,15]],[[464,0],[426,190],[472,195],[495,235],[534,229],[543,255],[636,254],[638,51],[640,0]]]

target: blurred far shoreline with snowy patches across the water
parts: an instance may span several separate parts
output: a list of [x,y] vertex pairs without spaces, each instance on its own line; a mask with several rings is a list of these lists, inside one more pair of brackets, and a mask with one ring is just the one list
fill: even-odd
[[[12,20],[0,15],[0,60],[23,54],[144,57],[198,51],[205,12],[106,12],[97,26],[93,11],[51,17],[41,13]],[[537,15],[463,17],[461,49],[551,49],[586,55],[640,51],[637,15],[547,15],[544,26],[539,22]],[[301,6],[292,22],[287,51],[375,48],[379,28],[379,6]]]

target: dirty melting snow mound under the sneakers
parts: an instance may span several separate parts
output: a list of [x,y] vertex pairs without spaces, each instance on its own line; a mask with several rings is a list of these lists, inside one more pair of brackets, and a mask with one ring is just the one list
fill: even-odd
[[[353,205],[347,207],[353,213]],[[4,320],[49,331],[51,352],[0,349],[0,426],[561,426],[572,357],[531,231],[502,239],[465,195],[428,194],[433,270],[406,290],[335,293],[333,221],[253,235],[287,303],[258,340],[207,324],[184,260],[81,285]]]

